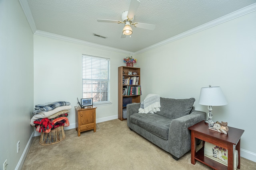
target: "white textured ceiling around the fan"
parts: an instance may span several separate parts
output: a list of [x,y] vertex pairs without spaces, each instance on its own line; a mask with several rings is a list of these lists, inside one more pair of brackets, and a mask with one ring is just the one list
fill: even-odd
[[[182,32],[256,3],[256,0],[140,0],[133,22],[155,24],[154,31],[132,26],[120,38],[121,20],[130,0],[27,0],[36,29],[117,49],[136,52]],[[96,37],[96,33],[107,37]]]

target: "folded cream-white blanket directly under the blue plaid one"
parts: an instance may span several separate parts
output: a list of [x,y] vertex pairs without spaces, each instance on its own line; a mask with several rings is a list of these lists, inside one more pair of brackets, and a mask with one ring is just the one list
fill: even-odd
[[44,111],[40,114],[36,114],[34,115],[31,119],[30,119],[30,125],[34,126],[34,121],[36,119],[42,119],[42,118],[46,118],[46,117],[49,117],[55,113],[58,113],[59,111],[62,111],[62,110],[69,110],[71,109],[71,105],[69,106],[60,106],[60,107],[57,107],[56,109],[53,109],[53,110],[50,110],[50,111]]

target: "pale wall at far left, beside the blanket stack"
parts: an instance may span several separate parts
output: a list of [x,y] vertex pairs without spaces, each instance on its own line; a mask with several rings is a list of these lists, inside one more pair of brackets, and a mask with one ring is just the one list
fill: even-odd
[[34,107],[33,33],[18,0],[0,1],[0,63],[0,169],[7,159],[14,170],[33,133]]

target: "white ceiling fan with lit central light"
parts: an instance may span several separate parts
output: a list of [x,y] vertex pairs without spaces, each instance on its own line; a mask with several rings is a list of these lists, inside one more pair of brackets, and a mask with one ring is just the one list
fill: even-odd
[[132,27],[130,25],[134,25],[134,27],[143,28],[143,29],[150,29],[154,30],[156,25],[148,24],[148,23],[140,23],[134,22],[134,14],[140,5],[139,0],[131,0],[130,7],[128,11],[124,11],[122,13],[122,21],[117,20],[104,20],[104,19],[97,19],[98,22],[110,22],[110,23],[125,23],[124,29],[121,35],[121,38],[125,38],[126,35],[132,34]]

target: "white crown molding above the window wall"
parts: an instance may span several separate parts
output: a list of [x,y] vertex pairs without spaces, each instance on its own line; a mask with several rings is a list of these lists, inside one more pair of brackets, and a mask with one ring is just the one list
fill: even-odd
[[60,40],[63,40],[63,41],[69,41],[69,42],[72,42],[72,43],[82,44],[82,45],[86,45],[86,46],[90,46],[90,47],[96,47],[96,48],[100,48],[100,49],[104,49],[104,50],[109,50],[109,51],[114,51],[114,52],[118,52],[118,53],[134,54],[131,51],[125,51],[125,50],[122,50],[122,49],[108,47],[106,45],[90,43],[88,41],[83,41],[83,40],[80,40],[80,39],[65,37],[65,36],[62,36],[62,35],[58,35],[58,34],[54,34],[54,33],[49,33],[49,32],[45,32],[45,31],[40,31],[40,30],[36,30],[34,35],[41,35],[41,36],[44,36],[44,37],[60,39]]

